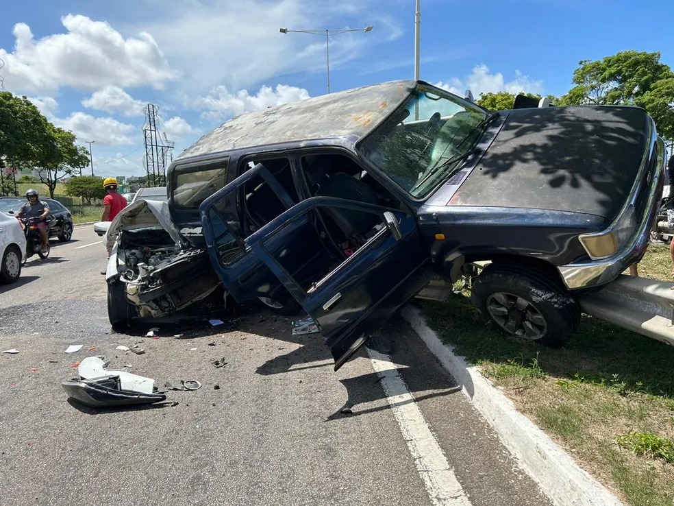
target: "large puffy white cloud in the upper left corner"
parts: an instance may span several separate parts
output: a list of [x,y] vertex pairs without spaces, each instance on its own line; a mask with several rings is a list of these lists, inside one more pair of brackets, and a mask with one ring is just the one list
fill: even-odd
[[55,90],[73,86],[93,90],[149,85],[161,88],[177,77],[147,32],[124,38],[108,23],[87,16],[61,18],[65,34],[35,40],[25,23],[14,25],[14,51],[0,49],[5,86],[13,90]]

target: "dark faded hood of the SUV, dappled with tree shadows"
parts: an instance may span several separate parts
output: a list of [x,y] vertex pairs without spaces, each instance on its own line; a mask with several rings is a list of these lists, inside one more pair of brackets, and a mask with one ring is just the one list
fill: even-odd
[[[506,112],[492,145],[449,206],[571,211],[614,219],[649,148],[652,121],[634,107]],[[442,189],[432,197],[436,205]]]

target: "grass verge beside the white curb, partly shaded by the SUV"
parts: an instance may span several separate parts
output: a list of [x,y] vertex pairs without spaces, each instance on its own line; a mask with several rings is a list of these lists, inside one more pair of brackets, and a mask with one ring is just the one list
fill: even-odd
[[[639,275],[671,280],[669,248],[651,245]],[[584,315],[554,350],[509,339],[482,320],[467,291],[421,302],[429,325],[634,506],[674,503],[674,347]]]

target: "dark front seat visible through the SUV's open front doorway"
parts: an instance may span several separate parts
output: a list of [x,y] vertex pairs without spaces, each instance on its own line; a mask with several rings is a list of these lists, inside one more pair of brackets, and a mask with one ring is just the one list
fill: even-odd
[[[338,172],[323,182],[316,195],[321,197],[337,197],[367,204],[377,204],[377,194],[364,182]],[[363,213],[338,207],[323,207],[321,211],[327,215],[342,231],[345,239],[354,234],[365,234],[379,223],[379,217],[372,213]]]

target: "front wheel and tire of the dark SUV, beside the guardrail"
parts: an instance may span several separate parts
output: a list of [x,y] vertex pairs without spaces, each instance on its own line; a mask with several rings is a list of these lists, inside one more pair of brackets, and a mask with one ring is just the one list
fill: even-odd
[[551,274],[530,265],[495,263],[477,277],[473,304],[502,332],[564,346],[580,323],[580,308]]

